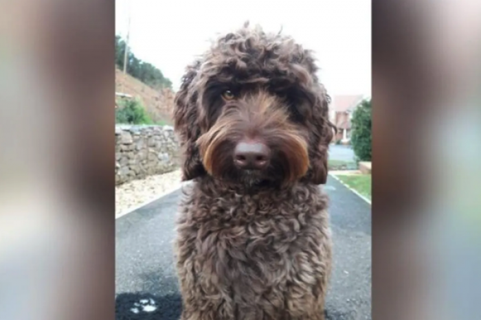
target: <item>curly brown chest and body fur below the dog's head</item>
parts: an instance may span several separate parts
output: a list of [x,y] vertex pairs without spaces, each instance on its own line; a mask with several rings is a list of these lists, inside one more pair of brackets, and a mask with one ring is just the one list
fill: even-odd
[[304,295],[296,282],[317,299],[330,271],[326,206],[313,185],[239,195],[197,183],[177,226],[183,298],[203,296],[225,319],[276,319],[290,290]]

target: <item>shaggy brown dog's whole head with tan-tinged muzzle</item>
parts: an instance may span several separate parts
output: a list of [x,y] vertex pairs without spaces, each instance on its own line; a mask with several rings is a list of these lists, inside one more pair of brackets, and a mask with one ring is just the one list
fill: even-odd
[[311,52],[247,25],[188,67],[176,95],[183,180],[326,183],[335,127]]

